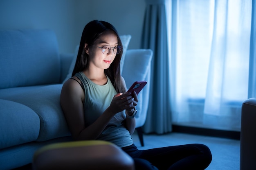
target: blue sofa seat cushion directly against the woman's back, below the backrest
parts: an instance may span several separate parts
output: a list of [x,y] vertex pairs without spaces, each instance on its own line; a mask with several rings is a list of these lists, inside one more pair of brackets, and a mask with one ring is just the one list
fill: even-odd
[[25,105],[40,118],[40,133],[36,141],[69,136],[66,120],[60,105],[62,84],[16,87],[0,90],[0,98]]

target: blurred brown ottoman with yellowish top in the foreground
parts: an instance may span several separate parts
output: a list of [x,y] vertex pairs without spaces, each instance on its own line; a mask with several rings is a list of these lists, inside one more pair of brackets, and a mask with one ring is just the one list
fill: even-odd
[[36,151],[34,170],[134,170],[133,159],[106,141],[87,140],[44,146]]

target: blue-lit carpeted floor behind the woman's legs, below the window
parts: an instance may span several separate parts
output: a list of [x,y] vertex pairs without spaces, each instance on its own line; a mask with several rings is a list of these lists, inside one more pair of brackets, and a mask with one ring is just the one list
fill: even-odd
[[210,148],[213,156],[212,162],[206,170],[239,170],[240,140],[169,133],[166,135],[144,135],[144,147],[141,147],[137,134],[133,134],[132,137],[139,149],[191,143],[205,144]]

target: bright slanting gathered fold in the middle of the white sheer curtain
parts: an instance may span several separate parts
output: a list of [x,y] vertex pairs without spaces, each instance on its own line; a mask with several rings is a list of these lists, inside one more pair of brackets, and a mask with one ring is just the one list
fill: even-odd
[[[216,0],[204,113],[219,115],[227,62],[228,0]],[[220,17],[222,19],[220,19]],[[214,103],[214,105],[213,105]]]

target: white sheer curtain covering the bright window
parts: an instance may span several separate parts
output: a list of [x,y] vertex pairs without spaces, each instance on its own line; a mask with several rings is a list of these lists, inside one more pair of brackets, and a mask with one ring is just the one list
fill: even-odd
[[240,131],[252,0],[166,0],[174,124]]

